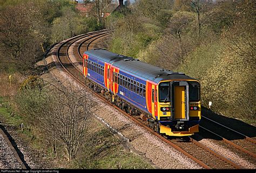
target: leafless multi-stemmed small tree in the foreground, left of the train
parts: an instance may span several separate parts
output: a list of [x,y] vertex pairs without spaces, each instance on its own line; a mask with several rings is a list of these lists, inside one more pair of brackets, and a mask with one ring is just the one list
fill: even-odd
[[51,84],[47,96],[49,108],[41,121],[52,140],[64,145],[68,161],[75,157],[78,147],[86,134],[86,123],[92,117],[91,109],[95,103],[84,89],[68,85]]

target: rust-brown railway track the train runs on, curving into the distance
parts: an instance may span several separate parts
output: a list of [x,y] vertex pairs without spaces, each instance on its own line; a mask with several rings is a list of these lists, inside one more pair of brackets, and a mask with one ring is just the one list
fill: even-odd
[[[69,48],[72,44],[78,45],[77,51],[75,51],[76,60],[78,64],[82,64],[82,54],[84,51],[89,49],[89,46],[100,38],[105,37],[111,31],[99,31],[99,32],[91,32],[88,34],[79,35],[78,37],[72,38],[69,41],[64,42],[57,50],[57,59],[63,69],[76,80],[78,83],[83,85],[85,88],[87,84],[85,82],[85,77],[83,76],[83,72],[77,67],[77,64],[73,63],[70,59],[69,55]],[[85,48],[86,45],[86,48]],[[82,47],[85,48],[82,51]],[[79,56],[77,56],[79,55]],[[88,88],[89,89],[89,88]],[[125,114],[127,117],[135,121],[138,125],[146,128],[152,134],[158,136],[161,140],[165,141],[172,147],[179,150],[181,153],[185,154],[186,156],[190,157],[192,160],[200,164],[202,167],[206,169],[242,169],[240,165],[234,163],[231,160],[228,160],[226,157],[214,152],[212,149],[204,146],[203,144],[199,143],[198,141],[192,138],[183,138],[181,139],[172,139],[167,138],[166,136],[159,135],[158,133],[154,132],[150,127],[148,127],[144,121],[142,121],[139,116],[131,116],[130,114],[124,112],[122,109],[117,107],[116,105],[111,104],[108,102],[103,95],[97,92],[93,92],[89,89],[89,91],[98,98],[102,99],[107,104],[115,107],[118,111]]]

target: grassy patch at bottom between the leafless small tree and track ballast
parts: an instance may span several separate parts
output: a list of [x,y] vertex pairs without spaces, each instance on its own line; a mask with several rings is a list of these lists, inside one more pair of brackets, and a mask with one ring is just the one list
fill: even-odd
[[142,157],[126,152],[120,141],[108,129],[93,120],[89,136],[83,146],[83,155],[73,161],[72,167],[85,169],[153,169]]

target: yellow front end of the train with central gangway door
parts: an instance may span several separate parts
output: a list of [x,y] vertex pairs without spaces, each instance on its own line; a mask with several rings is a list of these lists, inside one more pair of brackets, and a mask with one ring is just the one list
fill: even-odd
[[178,76],[177,79],[158,83],[156,102],[152,104],[156,112],[152,113],[153,119],[149,121],[154,123],[154,128],[159,133],[188,136],[198,132],[201,119],[200,83]]

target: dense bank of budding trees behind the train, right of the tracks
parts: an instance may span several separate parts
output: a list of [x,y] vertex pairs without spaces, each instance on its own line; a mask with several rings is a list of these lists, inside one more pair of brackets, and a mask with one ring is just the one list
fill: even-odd
[[140,0],[115,13],[109,49],[201,82],[203,105],[255,122],[255,3]]

